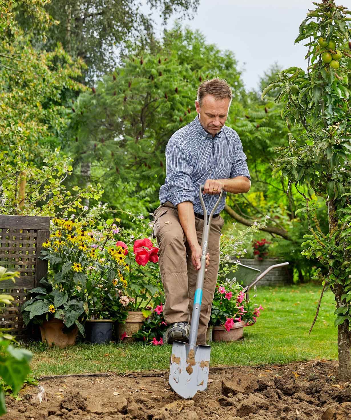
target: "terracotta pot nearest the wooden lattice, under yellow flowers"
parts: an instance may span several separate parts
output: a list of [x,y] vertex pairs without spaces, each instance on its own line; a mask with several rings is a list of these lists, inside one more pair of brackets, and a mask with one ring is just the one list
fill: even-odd
[[49,347],[55,345],[60,349],[65,349],[67,346],[73,346],[75,344],[75,339],[77,338],[78,327],[64,333],[62,331],[64,326],[64,323],[60,319],[53,318],[49,321],[45,321],[43,325],[40,326],[42,342],[44,343],[46,341]]

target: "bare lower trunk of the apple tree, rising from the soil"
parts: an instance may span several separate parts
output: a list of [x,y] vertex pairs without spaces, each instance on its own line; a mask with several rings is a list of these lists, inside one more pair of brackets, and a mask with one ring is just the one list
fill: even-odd
[[[343,286],[336,284],[333,287],[336,299],[336,307],[345,307],[346,303],[341,300]],[[351,357],[350,357],[350,323],[346,319],[338,325],[338,359],[339,359],[339,379],[347,382],[351,379]]]

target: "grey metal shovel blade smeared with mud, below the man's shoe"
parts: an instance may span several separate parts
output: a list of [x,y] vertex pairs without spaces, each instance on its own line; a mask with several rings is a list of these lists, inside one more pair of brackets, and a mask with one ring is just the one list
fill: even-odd
[[182,341],[174,341],[172,346],[169,385],[183,398],[192,398],[207,387],[210,367],[211,346],[190,347]]

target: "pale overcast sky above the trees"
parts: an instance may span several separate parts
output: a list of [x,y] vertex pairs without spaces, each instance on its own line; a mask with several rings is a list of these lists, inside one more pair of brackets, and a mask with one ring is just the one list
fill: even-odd
[[[148,13],[146,0],[141,1]],[[199,29],[208,43],[233,51],[246,88],[257,89],[259,76],[275,61],[283,68],[306,70],[308,48],[302,42],[308,41],[294,45],[294,40],[308,9],[314,8],[311,0],[200,0],[195,18],[182,24]],[[161,24],[159,13],[154,11],[152,16]]]

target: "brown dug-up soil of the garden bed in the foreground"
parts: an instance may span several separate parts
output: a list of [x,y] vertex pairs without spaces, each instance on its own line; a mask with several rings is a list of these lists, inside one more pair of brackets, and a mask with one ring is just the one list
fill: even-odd
[[211,368],[207,391],[185,400],[168,371],[66,376],[40,381],[47,402],[6,398],[3,420],[342,420],[351,419],[351,383],[335,379],[337,362]]

